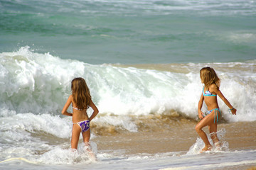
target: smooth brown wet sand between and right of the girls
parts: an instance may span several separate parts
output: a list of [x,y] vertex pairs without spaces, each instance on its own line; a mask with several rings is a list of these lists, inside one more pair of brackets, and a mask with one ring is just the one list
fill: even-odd
[[[186,121],[186,122],[185,122]],[[162,124],[163,125],[163,124]],[[125,154],[156,154],[164,152],[188,152],[196,142],[196,121],[184,120],[159,130],[139,129],[139,132],[116,132],[95,137],[98,150],[122,150]],[[226,130],[222,139],[230,150],[256,149],[256,122],[220,123],[218,130]],[[208,133],[208,128],[203,128]],[[149,131],[149,132],[146,132]]]

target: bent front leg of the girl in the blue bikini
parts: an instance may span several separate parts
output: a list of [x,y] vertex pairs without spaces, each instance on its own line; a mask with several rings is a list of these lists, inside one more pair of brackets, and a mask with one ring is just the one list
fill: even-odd
[[210,148],[211,148],[211,145],[210,145],[210,142],[207,138],[207,135],[206,135],[205,132],[203,132],[202,128],[207,126],[207,125],[210,126],[211,124],[213,124],[213,120],[214,120],[214,111],[212,111],[209,115],[206,115],[206,117],[203,118],[196,125],[196,132],[198,132],[198,135],[201,137],[201,139],[205,143],[205,147],[202,149],[202,152],[206,151],[206,150],[210,150]]

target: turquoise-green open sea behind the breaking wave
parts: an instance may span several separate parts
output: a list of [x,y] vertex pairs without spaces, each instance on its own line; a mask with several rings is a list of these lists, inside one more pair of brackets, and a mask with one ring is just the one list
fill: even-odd
[[244,62],[256,2],[1,1],[0,52],[30,46],[90,64]]

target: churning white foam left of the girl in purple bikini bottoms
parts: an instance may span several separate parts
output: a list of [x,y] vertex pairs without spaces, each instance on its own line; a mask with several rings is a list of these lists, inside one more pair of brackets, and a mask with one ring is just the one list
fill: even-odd
[[[70,118],[50,114],[18,113],[1,117],[0,120],[2,159],[22,157],[36,164],[75,164],[94,160],[90,154],[85,154],[86,148],[82,143],[78,145],[78,152],[68,149],[70,140],[63,139],[70,139]],[[9,147],[10,145],[12,147]],[[90,146],[92,152],[97,154],[95,142],[90,141]]]

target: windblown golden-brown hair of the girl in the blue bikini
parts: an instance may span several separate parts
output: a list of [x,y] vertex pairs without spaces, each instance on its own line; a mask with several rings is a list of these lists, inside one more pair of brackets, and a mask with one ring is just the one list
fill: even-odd
[[215,84],[217,89],[220,88],[220,79],[218,78],[213,68],[203,67],[200,70],[200,78],[203,84],[205,84],[206,89],[209,89],[211,84]]

